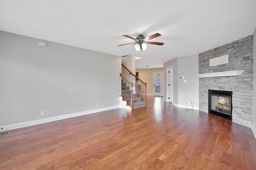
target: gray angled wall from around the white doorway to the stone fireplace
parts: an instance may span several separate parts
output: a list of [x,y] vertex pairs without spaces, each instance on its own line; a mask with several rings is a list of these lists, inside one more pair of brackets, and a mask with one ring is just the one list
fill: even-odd
[[[198,109],[198,55],[177,57],[164,63],[164,84],[166,84],[166,69],[173,66],[173,104],[178,107],[191,107],[185,101],[191,101],[194,109]],[[184,76],[184,79],[179,79]],[[166,92],[166,87],[165,87]],[[167,99],[164,93],[164,99]]]

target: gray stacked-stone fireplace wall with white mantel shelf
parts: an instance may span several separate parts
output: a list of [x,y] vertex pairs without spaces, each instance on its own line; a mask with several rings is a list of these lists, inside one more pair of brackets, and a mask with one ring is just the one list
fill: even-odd
[[[224,55],[228,62],[210,65],[210,59]],[[252,56],[252,35],[199,54],[199,110],[209,113],[208,90],[229,91],[232,105],[226,115],[235,123],[252,126]],[[211,109],[228,107],[225,101],[223,106],[219,103]]]

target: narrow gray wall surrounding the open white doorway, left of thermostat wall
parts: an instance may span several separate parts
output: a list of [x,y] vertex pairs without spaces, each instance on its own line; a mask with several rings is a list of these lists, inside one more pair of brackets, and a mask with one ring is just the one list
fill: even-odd
[[[178,104],[178,58],[164,63],[164,84],[166,84],[166,71],[167,68],[173,68],[173,103]],[[167,100],[166,86],[164,86],[164,100]]]

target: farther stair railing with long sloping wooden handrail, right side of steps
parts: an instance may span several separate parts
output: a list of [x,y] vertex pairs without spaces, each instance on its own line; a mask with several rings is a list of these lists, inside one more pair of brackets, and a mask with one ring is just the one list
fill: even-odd
[[146,103],[147,106],[147,83],[143,82],[138,76],[134,75],[124,64],[122,66],[129,72],[130,75],[136,78],[136,83],[134,87],[134,92],[138,95],[139,98],[142,98],[142,102]]

